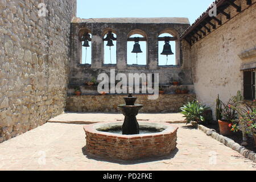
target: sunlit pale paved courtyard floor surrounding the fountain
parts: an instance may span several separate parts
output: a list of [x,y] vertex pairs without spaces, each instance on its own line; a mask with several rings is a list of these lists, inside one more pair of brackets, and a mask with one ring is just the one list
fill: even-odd
[[[77,115],[78,116],[78,115]],[[98,120],[108,118],[98,114]],[[61,115],[60,115],[61,117]],[[62,116],[63,117],[63,116]],[[77,119],[92,114],[79,114]],[[159,121],[175,121],[177,114],[158,114]],[[68,118],[68,117],[67,117]],[[103,119],[104,118],[104,119]],[[115,114],[115,118],[122,115]],[[156,121],[150,114],[138,119]],[[70,120],[70,119],[69,119]],[[95,121],[95,120],[94,120]],[[256,164],[208,137],[202,131],[179,126],[177,148],[170,156],[134,162],[109,161],[85,154],[83,125],[46,123],[0,144],[1,170],[256,170]]]

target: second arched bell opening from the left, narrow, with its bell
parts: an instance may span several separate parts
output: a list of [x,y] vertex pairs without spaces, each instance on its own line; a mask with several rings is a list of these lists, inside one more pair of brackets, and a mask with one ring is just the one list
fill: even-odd
[[104,64],[117,64],[117,35],[113,30],[104,31]]

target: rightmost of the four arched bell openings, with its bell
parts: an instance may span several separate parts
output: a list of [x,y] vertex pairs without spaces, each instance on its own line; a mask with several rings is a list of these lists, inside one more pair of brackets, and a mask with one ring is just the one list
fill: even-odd
[[160,34],[158,37],[158,65],[177,65],[176,42],[170,33]]

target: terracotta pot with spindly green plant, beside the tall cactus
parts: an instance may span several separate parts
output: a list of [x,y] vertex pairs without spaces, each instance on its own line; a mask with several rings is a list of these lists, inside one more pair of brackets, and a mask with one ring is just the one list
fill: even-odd
[[[220,127],[220,134],[221,135],[232,135],[233,122],[237,119],[237,112],[235,109],[232,108],[234,105],[233,99],[228,101],[228,104],[224,104],[218,96],[217,98],[216,111],[218,110],[218,126]],[[223,109],[222,109],[223,106]]]

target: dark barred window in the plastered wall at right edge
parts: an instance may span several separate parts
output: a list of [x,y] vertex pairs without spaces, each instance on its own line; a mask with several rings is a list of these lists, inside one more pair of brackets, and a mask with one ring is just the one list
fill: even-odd
[[243,71],[243,97],[255,100],[255,69]]

